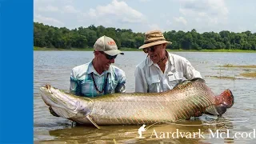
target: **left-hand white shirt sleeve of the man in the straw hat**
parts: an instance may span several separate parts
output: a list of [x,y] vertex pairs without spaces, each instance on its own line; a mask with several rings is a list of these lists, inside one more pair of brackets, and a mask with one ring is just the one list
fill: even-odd
[[147,93],[148,87],[146,83],[145,74],[142,73],[142,70],[138,66],[135,68],[134,76],[135,76],[135,92]]

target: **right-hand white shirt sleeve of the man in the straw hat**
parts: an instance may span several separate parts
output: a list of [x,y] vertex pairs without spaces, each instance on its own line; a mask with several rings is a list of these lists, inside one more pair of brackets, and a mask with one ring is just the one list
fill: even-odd
[[184,77],[188,80],[192,80],[194,78],[202,78],[198,70],[195,70],[187,59],[185,59],[185,61],[183,62],[183,70],[185,70]]

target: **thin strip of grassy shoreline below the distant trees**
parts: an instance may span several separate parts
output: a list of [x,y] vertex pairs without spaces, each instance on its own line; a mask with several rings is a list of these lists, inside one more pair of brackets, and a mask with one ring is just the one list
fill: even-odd
[[[93,51],[93,48],[83,48],[83,49],[78,49],[78,48],[71,48],[71,49],[57,49],[57,48],[46,48],[46,47],[37,47],[34,46],[34,51]],[[122,51],[142,51],[139,49],[134,49],[134,48],[120,48],[118,50]],[[229,52],[229,53],[256,53],[256,50],[226,50],[226,49],[219,49],[219,50],[170,50],[167,49],[167,51],[172,51],[172,52]]]

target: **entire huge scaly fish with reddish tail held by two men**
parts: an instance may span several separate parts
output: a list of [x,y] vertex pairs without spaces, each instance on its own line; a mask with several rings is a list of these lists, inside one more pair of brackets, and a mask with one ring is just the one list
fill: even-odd
[[215,96],[202,79],[183,82],[162,93],[115,93],[86,98],[50,85],[41,86],[40,92],[43,101],[56,114],[80,124],[175,122],[198,114],[222,115],[234,104],[230,90]]

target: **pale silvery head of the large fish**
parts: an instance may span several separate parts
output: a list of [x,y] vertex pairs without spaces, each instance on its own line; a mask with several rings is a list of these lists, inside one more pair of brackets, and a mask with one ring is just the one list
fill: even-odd
[[46,105],[62,118],[78,118],[90,114],[93,102],[90,98],[67,94],[50,85],[41,86],[40,93]]

